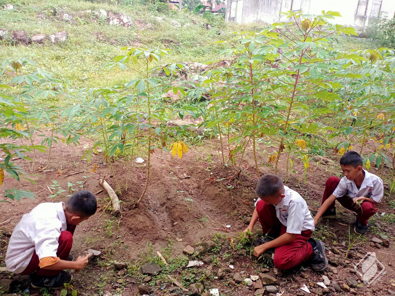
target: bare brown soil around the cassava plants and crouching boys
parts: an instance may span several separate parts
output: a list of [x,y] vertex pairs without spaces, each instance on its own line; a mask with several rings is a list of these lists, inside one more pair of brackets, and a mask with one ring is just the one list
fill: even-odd
[[[87,179],[83,185],[84,189],[88,189],[97,193],[102,188],[98,184],[101,176],[107,176],[106,180],[115,188],[117,178],[120,184],[122,196],[122,216],[115,218],[108,211],[103,209],[108,208],[108,200],[104,192],[98,193],[97,197],[100,204],[98,212],[83,222],[75,232],[74,245],[72,253],[74,255],[82,254],[88,248],[100,249],[106,253],[105,264],[111,266],[111,260],[126,260],[127,262],[137,262],[141,258],[143,251],[149,251],[151,245],[154,251],[160,251],[163,247],[169,245],[169,241],[173,242],[173,257],[181,255],[182,249],[190,244],[196,244],[201,240],[210,239],[215,233],[220,232],[226,236],[237,236],[237,234],[246,225],[243,223],[246,216],[250,215],[253,210],[254,202],[254,187],[256,184],[256,173],[254,169],[254,161],[251,157],[251,151],[247,150],[245,160],[241,165],[242,172],[239,174],[237,180],[234,178],[235,173],[231,168],[224,168],[218,152],[215,149],[215,143],[209,144],[211,147],[196,147],[190,148],[188,154],[179,159],[174,159],[171,154],[165,152],[155,152],[152,155],[151,163],[151,179],[147,193],[141,202],[138,209],[133,209],[134,202],[139,198],[145,183],[146,167],[145,163],[139,165],[133,162],[133,167],[130,170],[130,177],[128,179],[128,189],[125,189],[126,178],[128,175],[129,163],[118,159],[113,163],[115,177],[111,176],[109,166],[104,162],[103,155],[92,155],[90,163],[81,161],[81,156],[84,154],[85,147],[92,145],[92,141],[84,140],[81,145],[77,147],[66,146],[62,143],[53,147],[51,152],[51,160],[48,162],[48,156],[45,154],[38,154],[36,157],[36,170],[43,169],[51,170],[48,172],[30,172],[28,178],[37,182],[32,184],[27,180],[22,180],[18,184],[14,179],[6,176],[2,189],[7,188],[22,188],[29,189],[36,193],[38,197],[34,200],[23,199],[20,202],[4,202],[0,207],[0,224],[6,222],[1,226],[3,232],[3,240],[1,242],[0,256],[2,259],[1,265],[4,265],[4,257],[6,252],[6,245],[9,233],[13,230],[15,225],[19,222],[21,216],[32,209],[41,202],[59,202],[67,200],[68,182],[77,184]],[[261,151],[265,151],[261,148]],[[224,152],[227,157],[227,152]],[[259,160],[260,173],[273,172],[273,168],[267,165],[265,159],[267,154],[262,153],[263,157]],[[32,157],[32,155],[30,155]],[[140,155],[143,157],[143,155]],[[285,159],[283,155],[282,159]],[[287,185],[292,189],[298,191],[307,200],[310,208],[317,206],[322,198],[322,189],[325,180],[334,174],[340,176],[340,169],[337,165],[339,157],[333,155],[331,162],[328,165],[322,163],[311,162],[311,171],[308,172],[307,184],[302,178],[303,165],[295,161],[293,167],[297,174],[291,174]],[[21,159],[15,161],[18,165],[23,167],[24,171],[29,172],[28,163]],[[97,163],[99,168],[92,172],[93,165]],[[79,172],[72,176],[65,177],[65,175],[73,172]],[[374,168],[371,172],[379,174]],[[285,178],[286,164],[283,160],[280,162],[278,174]],[[83,178],[83,176],[90,176]],[[301,178],[301,180],[299,180]],[[222,180],[221,180],[222,179]],[[56,197],[56,199],[48,198],[51,193],[47,186],[56,180],[66,192],[63,197]],[[231,185],[232,189],[228,188]],[[74,186],[77,188],[77,186]],[[189,201],[186,199],[192,199]],[[388,200],[392,198],[386,196],[382,203],[377,206],[378,213],[390,212],[388,207]],[[340,210],[340,208],[338,207]],[[336,256],[343,257],[343,253],[347,247],[341,245],[345,240],[348,245],[348,224],[354,223],[355,218],[351,212],[344,210],[336,221],[321,221],[317,227],[314,236],[317,238],[325,238],[327,251],[330,253],[339,253]],[[373,236],[379,237],[378,234],[388,236],[390,242],[394,236],[394,229],[392,225],[386,224],[377,218],[379,227],[375,228],[377,232],[375,235],[368,233],[364,238],[358,240],[354,248],[351,250],[351,255],[355,258],[348,259],[350,262],[356,264],[359,261],[358,253],[365,255],[367,252],[376,251],[377,258],[384,264],[386,274],[374,286],[361,285],[357,293],[363,295],[367,290],[372,290],[376,295],[382,291],[382,295],[391,294],[389,290],[395,290],[395,283],[391,281],[395,275],[392,269],[392,263],[395,262],[395,251],[393,245],[389,247],[381,246],[380,249],[370,246],[370,241]],[[226,225],[231,225],[228,229]],[[256,226],[256,228],[259,228]],[[328,231],[335,234],[335,237],[328,235]],[[351,227],[353,231],[353,227]],[[182,241],[181,241],[182,240]],[[224,247],[223,247],[224,248]],[[343,254],[343,255],[341,255]],[[246,266],[246,262],[248,262]],[[349,263],[349,264],[351,264]],[[105,265],[104,264],[104,265]],[[348,264],[348,263],[347,263]],[[92,291],[97,292],[97,287],[90,285],[97,281],[99,276],[109,272],[107,267],[103,265],[95,265],[90,263],[90,272],[85,273],[81,281],[75,283],[75,288],[79,289],[83,294],[90,295]],[[254,260],[243,257],[242,259],[235,259],[235,271],[245,270],[246,274],[254,274],[256,268],[260,268]],[[203,268],[203,266],[201,267]],[[354,276],[349,274],[348,266],[339,266],[338,274],[333,274],[333,279],[344,281],[344,277]],[[308,278],[301,277],[301,271],[308,273]],[[290,295],[295,295],[297,288],[302,283],[311,283],[322,281],[322,275],[311,272],[309,269],[294,270],[296,275],[294,277],[287,276],[289,279],[285,288]],[[2,274],[6,276],[6,274]],[[26,277],[17,277],[23,282],[22,287],[27,286],[28,279]],[[110,283],[109,283],[110,282]],[[220,285],[218,280],[211,281],[210,285],[217,287]],[[222,284],[221,284],[222,285]],[[111,286],[111,281],[107,281],[105,286],[107,290],[115,289],[116,283]],[[123,286],[123,294],[136,294],[136,285],[132,281]],[[388,290],[389,289],[389,290]],[[237,294],[248,294],[247,290],[242,288],[229,288],[229,292]],[[319,289],[311,288],[312,291]],[[129,292],[128,292],[129,291]],[[162,292],[161,292],[162,293]],[[221,292],[223,293],[223,291]],[[38,290],[31,290],[30,294],[38,295]],[[224,293],[223,293],[224,294]],[[344,294],[344,292],[343,292]],[[350,293],[346,293],[347,295]],[[333,294],[335,295],[335,294]],[[342,295],[337,292],[336,295]]]

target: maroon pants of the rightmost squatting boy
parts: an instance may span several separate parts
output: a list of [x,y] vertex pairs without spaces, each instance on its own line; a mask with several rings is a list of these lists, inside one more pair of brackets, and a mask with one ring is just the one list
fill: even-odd
[[[339,182],[340,180],[337,177],[328,178],[325,184],[325,191],[324,191],[324,197],[322,198],[322,203],[324,203],[324,201],[327,200],[327,198],[332,195],[337,185],[339,185]],[[352,201],[352,198],[349,197],[348,195],[343,195],[342,197],[339,197],[337,201],[340,202],[340,204],[344,206],[344,208],[348,210],[352,210],[353,212],[357,213],[359,223],[361,223],[364,226],[368,224],[369,218],[372,217],[372,215],[374,215],[374,213],[376,212],[376,207],[371,202],[364,201],[361,203],[361,206],[359,206],[355,204]],[[333,202],[328,209],[332,210],[333,208],[335,208],[335,202]]]

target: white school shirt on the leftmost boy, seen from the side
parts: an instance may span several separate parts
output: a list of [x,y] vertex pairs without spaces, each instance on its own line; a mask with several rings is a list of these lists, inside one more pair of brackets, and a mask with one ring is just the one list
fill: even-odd
[[38,258],[58,257],[60,232],[67,229],[63,202],[45,202],[24,214],[9,239],[6,265],[20,274],[28,266],[34,250]]

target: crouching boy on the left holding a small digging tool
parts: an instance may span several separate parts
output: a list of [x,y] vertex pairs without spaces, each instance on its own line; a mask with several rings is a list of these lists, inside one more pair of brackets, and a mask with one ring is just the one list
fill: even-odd
[[75,226],[96,212],[96,197],[87,190],[63,202],[45,202],[23,215],[9,240],[6,265],[10,272],[30,275],[32,287],[59,289],[73,278],[65,269],[81,270],[88,257],[72,261]]

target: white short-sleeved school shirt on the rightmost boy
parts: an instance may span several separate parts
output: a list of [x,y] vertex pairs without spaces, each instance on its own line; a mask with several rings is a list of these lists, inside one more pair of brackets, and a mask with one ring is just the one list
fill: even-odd
[[380,202],[384,195],[383,180],[367,170],[363,171],[365,172],[365,178],[363,178],[359,190],[354,180],[348,180],[346,177],[343,177],[335,191],[333,191],[333,195],[339,198],[348,194],[352,199],[364,196],[373,199],[375,202]]

